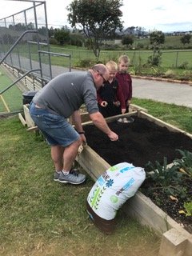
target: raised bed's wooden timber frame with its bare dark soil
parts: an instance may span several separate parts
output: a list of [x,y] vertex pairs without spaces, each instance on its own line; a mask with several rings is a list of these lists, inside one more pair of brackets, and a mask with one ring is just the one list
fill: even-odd
[[[163,157],[166,156],[167,162],[171,163],[174,158],[179,157],[175,149],[191,150],[191,134],[169,126],[143,111],[124,116],[130,115],[134,117],[134,122],[122,126],[116,122],[117,117],[107,118],[109,126],[119,134],[119,142],[110,142],[105,134],[92,125],[88,126],[88,123],[84,126],[89,146],[82,151],[78,162],[94,180],[109,166],[118,162],[132,162],[134,166],[144,167],[146,162],[157,160],[162,162]],[[144,123],[146,126],[143,125]],[[126,203],[124,209],[142,223],[152,226],[154,230],[163,234],[160,255],[167,251],[169,256],[177,255],[176,253],[190,255],[192,235],[174,222],[169,214],[154,205],[150,198],[138,192]]]

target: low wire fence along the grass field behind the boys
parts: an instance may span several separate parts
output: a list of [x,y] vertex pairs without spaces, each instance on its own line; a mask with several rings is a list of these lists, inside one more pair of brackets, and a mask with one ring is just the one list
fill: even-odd
[[[71,55],[72,66],[79,65],[80,62],[89,63],[95,62],[93,50],[74,50],[61,47],[50,46],[51,50],[65,52]],[[101,50],[99,61],[106,63],[109,60],[118,61],[118,57],[126,54],[130,58],[130,63],[133,66],[146,64],[148,58],[153,55],[153,50]],[[171,69],[187,66],[192,69],[192,50],[161,50],[161,66]]]

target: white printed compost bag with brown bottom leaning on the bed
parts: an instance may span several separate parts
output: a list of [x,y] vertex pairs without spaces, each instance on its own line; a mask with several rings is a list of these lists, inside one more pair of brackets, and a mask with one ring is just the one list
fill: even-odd
[[117,210],[134,196],[145,178],[142,167],[128,162],[118,163],[106,170],[87,197],[87,212],[94,224],[106,234],[112,233]]

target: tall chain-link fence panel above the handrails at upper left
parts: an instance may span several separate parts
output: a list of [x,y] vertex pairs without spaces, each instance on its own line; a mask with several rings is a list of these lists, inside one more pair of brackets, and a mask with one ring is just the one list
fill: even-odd
[[[31,3],[30,8],[0,19],[0,58],[6,57],[3,62],[18,70],[37,70],[39,77],[49,77],[50,71],[42,70],[38,52],[49,51],[46,6],[45,2]],[[43,58],[49,63],[49,55]]]

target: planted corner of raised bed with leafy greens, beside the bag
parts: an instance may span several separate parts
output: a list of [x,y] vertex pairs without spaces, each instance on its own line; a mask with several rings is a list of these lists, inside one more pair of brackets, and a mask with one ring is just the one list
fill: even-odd
[[146,181],[141,191],[171,218],[192,233],[191,170],[189,151],[179,150],[181,159],[175,159],[172,166],[159,162],[148,162]]

